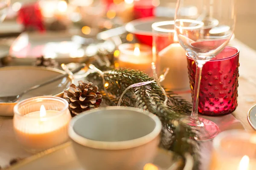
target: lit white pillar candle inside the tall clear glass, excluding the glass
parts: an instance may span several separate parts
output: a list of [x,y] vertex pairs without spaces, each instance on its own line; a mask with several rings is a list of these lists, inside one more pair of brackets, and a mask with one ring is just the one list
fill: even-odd
[[176,34],[174,35],[174,42],[158,53],[160,68],[169,68],[169,73],[162,85],[164,88],[175,91],[187,90],[189,89],[189,77],[186,51],[177,43]]

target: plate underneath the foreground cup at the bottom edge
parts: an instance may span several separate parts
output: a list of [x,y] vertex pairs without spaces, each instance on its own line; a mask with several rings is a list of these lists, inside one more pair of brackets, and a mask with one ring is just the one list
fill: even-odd
[[[181,159],[172,162],[175,153],[159,149],[154,165],[158,170],[166,170],[171,167],[176,170]],[[76,160],[71,142],[59,145],[52,149],[31,156],[20,163],[8,168],[8,170],[83,170]],[[148,168],[149,170],[149,168]],[[155,169],[154,169],[155,170]]]

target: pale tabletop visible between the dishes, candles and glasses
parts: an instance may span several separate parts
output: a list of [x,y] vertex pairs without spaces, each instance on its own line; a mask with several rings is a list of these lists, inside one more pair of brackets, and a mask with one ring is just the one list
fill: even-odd
[[[256,104],[256,74],[254,73],[256,51],[236,39],[230,42],[230,46],[234,46],[240,50],[238,107],[236,111],[232,113],[233,116],[230,114],[218,117],[203,117],[215,122],[220,127],[221,131],[228,129],[246,129],[247,131],[253,131],[253,128],[247,120],[247,112]],[[190,94],[186,94],[186,96],[190,96]],[[211,154],[212,143],[205,142],[201,147],[201,158],[203,158],[204,161],[202,161],[203,164],[201,164],[200,169],[206,170],[210,161],[209,155]],[[0,116],[0,166],[3,167],[8,164],[10,159],[28,156],[31,156],[31,154],[26,153],[15,140],[12,117]]]

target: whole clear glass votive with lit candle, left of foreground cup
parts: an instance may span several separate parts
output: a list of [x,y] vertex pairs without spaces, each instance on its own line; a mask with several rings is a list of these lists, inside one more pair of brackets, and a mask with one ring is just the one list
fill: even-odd
[[29,152],[47,150],[67,141],[70,119],[65,99],[55,96],[25,99],[14,107],[16,139]]

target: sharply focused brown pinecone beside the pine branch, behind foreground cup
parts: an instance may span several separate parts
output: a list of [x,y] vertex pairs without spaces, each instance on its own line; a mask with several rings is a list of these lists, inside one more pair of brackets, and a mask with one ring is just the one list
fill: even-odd
[[78,86],[70,85],[70,88],[64,91],[63,96],[69,103],[72,116],[93,108],[99,108],[102,102],[102,95],[98,91],[98,86],[93,86],[93,83],[88,81],[80,80],[78,83]]

